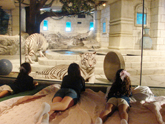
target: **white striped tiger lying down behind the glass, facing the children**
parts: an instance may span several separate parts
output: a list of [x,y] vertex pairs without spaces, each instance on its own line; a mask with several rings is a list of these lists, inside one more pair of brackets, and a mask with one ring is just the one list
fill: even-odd
[[[82,77],[86,82],[95,82],[95,65],[96,65],[96,52],[94,53],[83,53],[80,54],[80,71]],[[58,79],[62,80],[65,75],[67,75],[69,64],[56,65],[52,68],[46,69],[42,72],[36,72],[38,75],[46,79]]]

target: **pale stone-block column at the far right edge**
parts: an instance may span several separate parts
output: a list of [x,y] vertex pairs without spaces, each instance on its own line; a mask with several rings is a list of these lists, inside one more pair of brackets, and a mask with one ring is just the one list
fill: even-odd
[[151,0],[150,36],[154,50],[165,50],[165,0]]

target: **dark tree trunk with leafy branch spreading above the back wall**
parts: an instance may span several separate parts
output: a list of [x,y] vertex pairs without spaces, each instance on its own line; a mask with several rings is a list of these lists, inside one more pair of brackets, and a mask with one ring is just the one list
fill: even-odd
[[[28,3],[29,1],[29,3]],[[40,32],[40,23],[47,17],[61,17],[79,14],[91,14],[92,11],[106,1],[96,0],[59,0],[62,4],[62,9],[60,12],[54,12],[52,9],[50,11],[43,11],[41,13],[41,8],[51,8],[52,4],[56,0],[15,0],[15,3],[21,2],[22,4],[28,6],[27,9],[27,30],[26,32],[30,35],[33,33]]]

